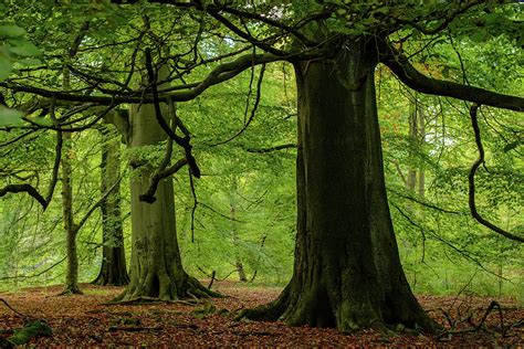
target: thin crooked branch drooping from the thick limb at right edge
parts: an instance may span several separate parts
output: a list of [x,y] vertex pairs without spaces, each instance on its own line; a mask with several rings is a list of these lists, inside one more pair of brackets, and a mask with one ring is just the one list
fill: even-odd
[[469,181],[469,200],[468,203],[470,205],[470,211],[471,215],[481,223],[484,226],[488,226],[492,231],[494,231],[497,234],[501,234],[507,239],[518,241],[518,242],[524,242],[524,237],[514,235],[510,232],[506,232],[505,230],[494,225],[493,223],[486,221],[483,219],[479,212],[476,211],[476,205],[475,205],[475,172],[476,169],[484,162],[484,147],[482,146],[482,139],[481,139],[481,134],[480,134],[480,128],[479,128],[479,121],[476,119],[476,112],[479,109],[479,105],[473,104],[470,108],[470,118],[471,118],[471,124],[473,126],[473,131],[475,134],[475,144],[476,148],[479,150],[479,158],[473,162],[470,169],[470,173],[468,176],[468,181]]

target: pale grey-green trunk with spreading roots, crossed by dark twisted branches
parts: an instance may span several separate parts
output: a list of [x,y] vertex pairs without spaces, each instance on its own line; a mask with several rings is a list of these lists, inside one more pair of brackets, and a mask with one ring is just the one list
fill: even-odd
[[[163,113],[168,116],[167,107]],[[129,115],[130,148],[158,146],[166,134],[155,118],[153,105],[133,106]],[[146,150],[142,150],[145,152]],[[190,277],[182,268],[178,248],[172,178],[158,183],[156,201],[146,203],[139,195],[149,187],[154,167],[140,159],[130,178],[132,256],[130,281],[116,300],[144,298],[177,299],[186,296],[209,296],[212,292]]]

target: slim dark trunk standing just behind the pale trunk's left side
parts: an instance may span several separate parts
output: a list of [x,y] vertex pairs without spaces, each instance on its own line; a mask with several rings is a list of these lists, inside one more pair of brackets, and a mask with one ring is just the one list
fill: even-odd
[[[124,230],[120,215],[120,142],[108,126],[102,134],[102,194],[112,187],[109,195],[101,202],[102,209],[102,266],[95,285],[122,286],[129,283],[124,248]],[[116,183],[116,186],[115,186]]]

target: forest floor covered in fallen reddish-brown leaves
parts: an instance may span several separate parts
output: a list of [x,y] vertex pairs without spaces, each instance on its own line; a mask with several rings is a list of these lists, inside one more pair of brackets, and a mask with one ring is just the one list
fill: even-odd
[[[335,329],[289,327],[282,322],[234,321],[233,313],[274,299],[281,288],[214,283],[227,295],[196,305],[161,303],[107,305],[122,287],[82,285],[85,295],[56,296],[61,286],[33,287],[0,294],[0,337],[12,336],[28,318],[45,321],[51,337],[33,338],[29,347],[159,346],[169,347],[518,347],[524,346],[524,307],[516,299],[497,299],[485,320],[491,298],[419,296],[422,306],[453,331],[441,338],[417,334],[352,335]],[[522,302],[522,300],[521,300]],[[495,305],[495,304],[493,304]],[[226,310],[228,311],[226,311]],[[19,314],[17,314],[15,311]],[[24,317],[27,317],[24,319]],[[470,317],[470,320],[467,319]],[[502,320],[502,322],[501,322]],[[474,328],[474,325],[478,329]],[[502,325],[502,327],[501,327]]]

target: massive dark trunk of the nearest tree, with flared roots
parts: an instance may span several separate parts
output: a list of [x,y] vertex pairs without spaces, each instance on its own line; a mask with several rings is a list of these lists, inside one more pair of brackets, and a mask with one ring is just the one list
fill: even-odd
[[296,66],[297,234],[294,273],[252,319],[342,331],[436,324],[411,293],[384,182],[373,42]]

